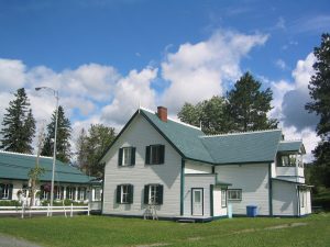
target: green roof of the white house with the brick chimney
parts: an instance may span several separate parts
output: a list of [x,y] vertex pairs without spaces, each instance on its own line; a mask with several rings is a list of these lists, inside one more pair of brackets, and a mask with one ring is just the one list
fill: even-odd
[[215,165],[273,161],[282,137],[280,130],[206,136],[197,127],[140,111],[185,158]]

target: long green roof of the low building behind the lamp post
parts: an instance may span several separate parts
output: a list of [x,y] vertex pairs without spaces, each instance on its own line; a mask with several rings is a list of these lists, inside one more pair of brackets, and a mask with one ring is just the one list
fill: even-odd
[[[28,172],[35,166],[33,155],[0,151],[0,178],[28,180]],[[53,158],[40,157],[40,166],[45,169],[41,181],[52,180]],[[84,175],[80,170],[56,160],[55,182],[88,183],[94,177]]]

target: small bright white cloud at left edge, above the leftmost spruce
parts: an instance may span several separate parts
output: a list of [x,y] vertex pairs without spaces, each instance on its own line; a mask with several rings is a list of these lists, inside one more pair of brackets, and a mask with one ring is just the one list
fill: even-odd
[[25,82],[25,65],[21,60],[0,58],[0,90],[16,90]]

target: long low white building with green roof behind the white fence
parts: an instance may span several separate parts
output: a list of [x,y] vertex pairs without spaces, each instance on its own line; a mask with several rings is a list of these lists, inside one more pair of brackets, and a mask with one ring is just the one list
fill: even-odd
[[[20,200],[20,194],[29,197],[28,173],[36,164],[35,155],[0,150],[0,200]],[[36,203],[51,198],[52,157],[40,157],[40,167],[45,172],[40,177]],[[92,177],[80,170],[56,160],[54,180],[54,200],[69,199],[73,201],[97,201],[101,198],[101,186],[90,182]]]

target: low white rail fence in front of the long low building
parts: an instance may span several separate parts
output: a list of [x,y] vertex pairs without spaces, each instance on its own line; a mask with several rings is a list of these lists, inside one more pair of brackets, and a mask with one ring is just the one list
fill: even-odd
[[87,212],[87,215],[90,213],[90,206],[88,205],[67,205],[67,206],[0,206],[0,215],[10,215],[10,214],[21,214],[23,218],[25,214],[43,214],[52,216],[53,213],[59,214],[63,213],[66,217],[69,214],[70,217],[74,216],[74,213],[84,213]]

